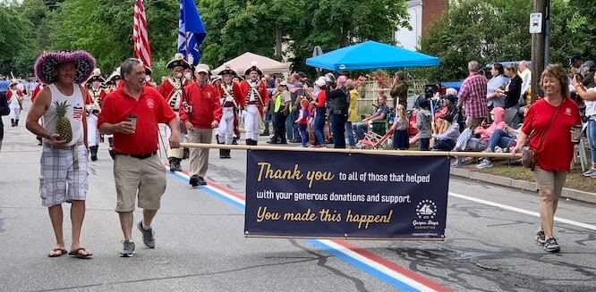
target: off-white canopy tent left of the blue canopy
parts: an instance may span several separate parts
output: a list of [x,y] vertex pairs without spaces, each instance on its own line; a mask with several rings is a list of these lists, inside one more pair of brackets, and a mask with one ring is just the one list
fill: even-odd
[[226,69],[226,65],[229,65],[232,70],[236,71],[239,75],[243,75],[244,71],[251,67],[252,63],[256,63],[257,67],[259,67],[263,73],[285,73],[290,71],[291,64],[277,62],[276,60],[259,54],[246,52],[217,67],[212,70],[212,72],[217,74],[219,71]]

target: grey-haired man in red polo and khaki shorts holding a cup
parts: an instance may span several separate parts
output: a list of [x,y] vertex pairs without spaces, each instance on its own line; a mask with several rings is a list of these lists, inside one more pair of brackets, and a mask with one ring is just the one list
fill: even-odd
[[[134,201],[139,193],[143,218],[137,223],[143,243],[155,247],[151,221],[158,213],[166,191],[166,171],[158,158],[158,123],[178,131],[178,119],[166,100],[153,88],[143,86],[145,68],[129,58],[121,66],[123,87],[106,96],[98,127],[102,134],[114,134],[114,179],[117,193],[115,211],[124,235],[123,257],[134,254],[132,224]],[[178,135],[171,135],[172,148],[180,147]]]

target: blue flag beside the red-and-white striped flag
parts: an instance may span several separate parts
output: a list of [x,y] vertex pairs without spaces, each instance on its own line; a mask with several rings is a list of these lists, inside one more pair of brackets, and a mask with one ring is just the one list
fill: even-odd
[[200,61],[199,46],[207,36],[200,21],[197,6],[192,0],[180,0],[180,21],[178,21],[178,53],[183,54],[188,63],[196,65]]

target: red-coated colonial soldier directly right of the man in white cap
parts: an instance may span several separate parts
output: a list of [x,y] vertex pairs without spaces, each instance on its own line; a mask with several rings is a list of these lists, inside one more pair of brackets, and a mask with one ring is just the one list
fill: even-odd
[[[218,75],[222,76],[221,84],[217,89],[220,93],[223,117],[219,123],[217,144],[231,145],[234,142],[234,111],[238,104],[241,104],[241,90],[238,83],[232,81],[232,78],[236,76],[236,71],[232,70],[230,66],[226,65],[226,69],[219,71]],[[230,149],[219,149],[219,158],[232,158]]]

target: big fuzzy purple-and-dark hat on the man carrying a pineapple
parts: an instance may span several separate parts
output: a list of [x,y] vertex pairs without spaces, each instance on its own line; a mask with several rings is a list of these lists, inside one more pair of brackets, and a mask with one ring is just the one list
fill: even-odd
[[85,51],[46,52],[35,61],[35,76],[44,84],[54,83],[58,65],[74,63],[74,83],[81,84],[89,79],[95,68],[95,59]]

